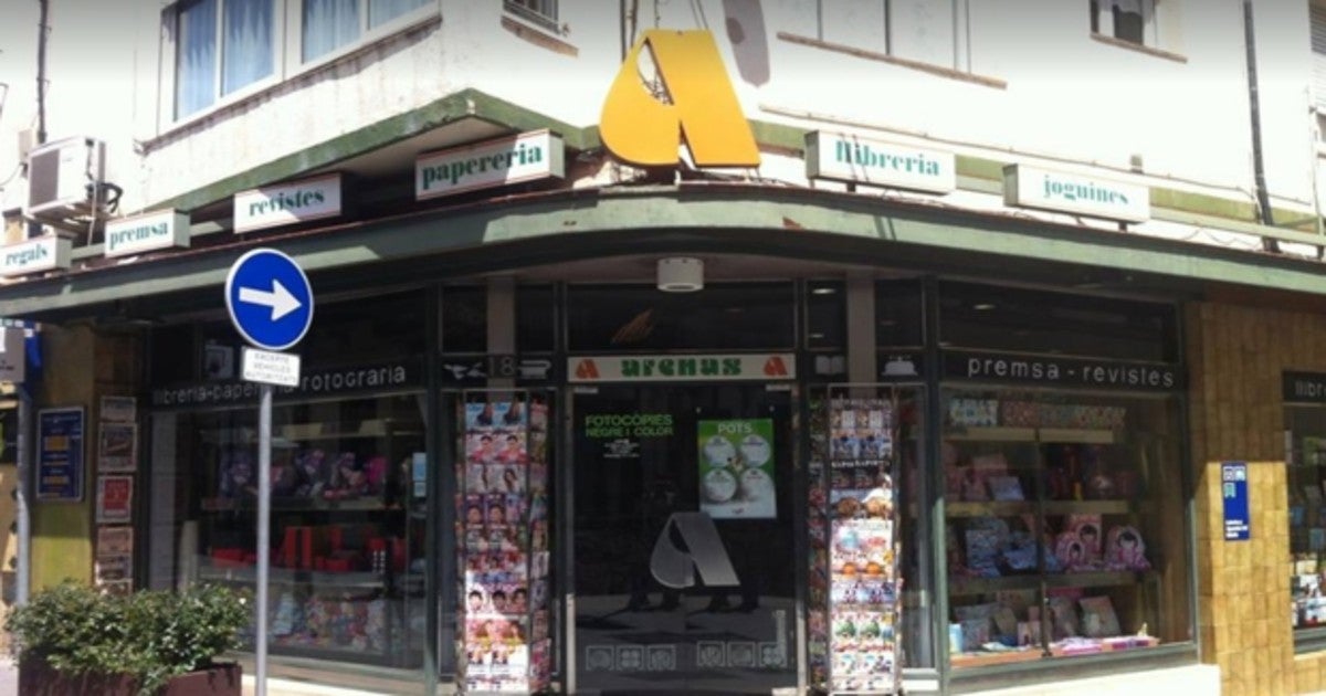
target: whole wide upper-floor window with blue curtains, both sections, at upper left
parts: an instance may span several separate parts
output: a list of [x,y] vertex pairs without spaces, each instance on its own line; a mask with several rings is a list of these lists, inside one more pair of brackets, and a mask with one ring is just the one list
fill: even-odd
[[[556,12],[556,3],[536,4]],[[166,16],[175,38],[174,118],[381,38],[435,7],[435,0],[180,0]]]

